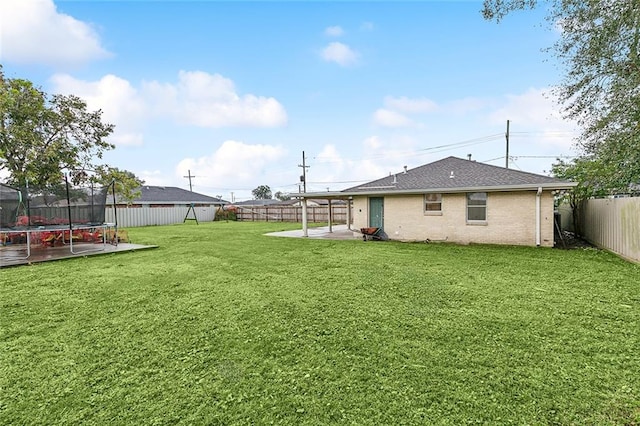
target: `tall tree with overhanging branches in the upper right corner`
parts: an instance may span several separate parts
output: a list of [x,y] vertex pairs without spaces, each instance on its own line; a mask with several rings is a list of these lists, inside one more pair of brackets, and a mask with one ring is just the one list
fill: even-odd
[[[640,181],[638,0],[485,0],[485,18],[545,7],[559,29],[551,52],[564,67],[555,93],[582,128],[579,147],[625,185]],[[623,185],[624,186],[624,185]]]

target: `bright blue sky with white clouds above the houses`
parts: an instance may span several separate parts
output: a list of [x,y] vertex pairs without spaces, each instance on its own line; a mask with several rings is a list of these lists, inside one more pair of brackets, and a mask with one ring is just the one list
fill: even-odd
[[[5,75],[116,125],[104,160],[225,199],[340,190],[450,155],[548,174],[575,155],[544,10],[481,1],[0,4]],[[0,172],[2,173],[2,172]]]

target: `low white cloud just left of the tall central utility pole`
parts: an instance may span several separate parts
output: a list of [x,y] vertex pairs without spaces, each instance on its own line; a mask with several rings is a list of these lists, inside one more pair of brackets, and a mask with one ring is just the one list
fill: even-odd
[[191,170],[198,177],[198,185],[220,187],[220,182],[233,182],[234,186],[265,184],[265,171],[286,154],[284,148],[273,145],[251,145],[225,141],[213,154],[199,158],[185,158],[176,166],[176,177]]

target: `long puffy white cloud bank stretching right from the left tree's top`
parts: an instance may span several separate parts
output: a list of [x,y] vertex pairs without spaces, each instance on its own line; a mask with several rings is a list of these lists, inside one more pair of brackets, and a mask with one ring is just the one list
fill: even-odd
[[74,94],[89,110],[102,110],[103,121],[116,126],[109,138],[116,145],[143,144],[145,126],[153,119],[198,127],[276,127],[287,122],[276,99],[238,95],[230,79],[201,71],[181,71],[175,84],[143,82],[140,88],[112,74],[97,81],[56,74],[51,82],[55,93]]

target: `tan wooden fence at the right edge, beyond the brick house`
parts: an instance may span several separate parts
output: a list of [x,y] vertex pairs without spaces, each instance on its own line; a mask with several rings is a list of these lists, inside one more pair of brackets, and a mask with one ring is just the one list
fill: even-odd
[[640,197],[587,200],[582,223],[587,241],[640,262]]

